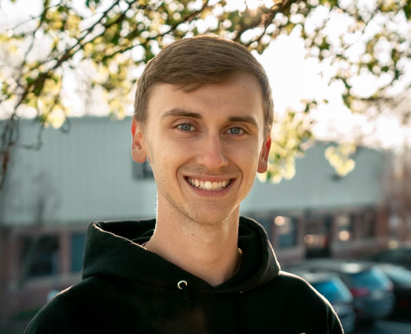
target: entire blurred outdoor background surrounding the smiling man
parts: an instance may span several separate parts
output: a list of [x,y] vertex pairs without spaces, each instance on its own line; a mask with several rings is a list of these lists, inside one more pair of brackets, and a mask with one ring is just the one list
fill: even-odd
[[[153,217],[133,98],[162,47],[252,50],[275,102],[241,214],[347,333],[411,333],[411,3],[0,0],[0,333],[81,279],[89,222]],[[233,59],[235,61],[235,59]]]

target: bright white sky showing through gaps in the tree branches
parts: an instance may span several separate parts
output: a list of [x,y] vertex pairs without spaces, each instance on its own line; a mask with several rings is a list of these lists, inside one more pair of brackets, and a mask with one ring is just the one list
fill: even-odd
[[[217,2],[216,0],[212,0]],[[348,1],[348,0],[347,0]],[[84,0],[73,0],[74,3],[78,3],[79,8],[84,9]],[[111,4],[111,0],[105,0],[107,5]],[[266,5],[272,4],[272,0],[246,0],[249,8],[256,8],[257,5],[264,2]],[[201,5],[202,1],[197,0],[191,6],[195,9],[196,6]],[[244,0],[227,0],[228,8],[242,9],[245,6]],[[76,6],[77,7],[77,6]],[[35,15],[42,9],[41,1],[32,0],[18,0],[15,4],[12,4],[9,0],[1,1],[0,7],[0,30],[7,29],[16,25],[16,23],[24,20],[25,18]],[[312,22],[306,23],[306,28],[314,30],[315,25],[321,22],[321,18],[326,15],[328,11],[324,8],[318,8],[316,16]],[[296,18],[298,20],[298,18]],[[216,24],[216,19],[212,16],[206,17],[199,22],[199,31],[207,29],[208,26]],[[338,38],[338,35],[345,32],[349,25],[352,24],[348,17],[335,17],[330,20],[328,26],[328,37],[330,39]],[[374,27],[378,29],[378,27]],[[409,29],[409,25],[404,23],[402,29]],[[252,32],[250,32],[252,33]],[[350,37],[347,37],[350,38]],[[356,40],[356,37],[353,41]],[[358,37],[357,37],[358,40]],[[43,42],[44,43],[44,42]],[[41,36],[39,36],[39,48],[41,48]],[[384,46],[381,46],[382,50]],[[361,44],[354,43],[352,57],[358,57],[357,54],[361,53]],[[136,48],[132,52],[132,57],[136,60],[141,57],[141,50]],[[320,104],[318,109],[312,112],[312,117],[318,121],[314,127],[314,133],[319,138],[323,139],[337,139],[338,137],[344,137],[346,140],[350,140],[353,137],[353,128],[360,127],[364,133],[372,133],[373,136],[378,137],[378,141],[382,146],[390,147],[395,146],[404,141],[404,138],[409,137],[411,143],[411,135],[408,128],[401,128],[397,119],[386,115],[382,117],[376,124],[374,129],[369,123],[367,123],[365,117],[359,114],[352,114],[342,103],[341,93],[344,87],[341,83],[335,82],[334,84],[327,86],[328,80],[334,73],[334,69],[323,62],[319,64],[316,57],[306,58],[306,50],[304,48],[304,41],[300,38],[300,31],[294,29],[289,36],[281,35],[275,41],[270,43],[270,46],[262,55],[255,54],[256,58],[265,67],[270,82],[272,85],[273,96],[275,101],[275,111],[279,116],[283,115],[287,108],[294,110],[301,110],[303,108],[301,99],[313,99],[322,101],[326,98],[329,103]],[[143,68],[134,71],[134,75],[141,73]],[[411,71],[409,71],[411,73]],[[381,80],[385,80],[382,78]],[[75,86],[72,83],[76,82],[76,78],[73,74],[68,75],[65,78],[65,86]],[[363,75],[357,78],[353,78],[352,83],[357,94],[368,96],[372,94],[379,83],[372,75]],[[78,87],[77,87],[78,88]],[[81,116],[84,114],[82,107],[82,101],[79,98],[79,94],[72,89],[67,89],[66,103],[72,105],[74,112],[72,116]],[[96,93],[98,95],[98,92]],[[97,96],[96,95],[96,96]],[[96,101],[100,101],[98,97]],[[0,113],[2,111],[0,110]],[[93,104],[92,110],[88,110],[88,114],[103,115],[107,113],[107,108],[104,105],[97,102]],[[132,106],[127,109],[127,114],[132,113]],[[5,114],[3,112],[3,118]],[[27,115],[30,116],[30,115]],[[34,116],[33,111],[31,116]],[[370,143],[372,140],[370,140]]]

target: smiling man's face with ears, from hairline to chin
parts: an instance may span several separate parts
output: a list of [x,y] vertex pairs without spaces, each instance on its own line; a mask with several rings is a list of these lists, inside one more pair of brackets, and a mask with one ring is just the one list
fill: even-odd
[[132,156],[148,157],[158,191],[158,214],[183,215],[200,224],[239,212],[256,172],[267,169],[270,139],[263,138],[259,82],[241,74],[183,92],[153,87],[144,125],[133,118]]

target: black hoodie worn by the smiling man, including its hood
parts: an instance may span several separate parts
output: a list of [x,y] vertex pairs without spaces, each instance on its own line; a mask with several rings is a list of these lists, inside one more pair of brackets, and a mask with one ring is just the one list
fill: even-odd
[[154,227],[154,219],[91,223],[82,281],[46,304],[26,334],[343,333],[319,293],[280,271],[254,220],[240,217],[242,262],[217,287],[142,247]]

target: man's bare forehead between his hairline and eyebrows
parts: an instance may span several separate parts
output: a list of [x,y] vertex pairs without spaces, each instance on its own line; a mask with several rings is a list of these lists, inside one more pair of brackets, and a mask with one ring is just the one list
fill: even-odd
[[251,115],[263,124],[261,86],[254,75],[247,73],[217,84],[201,85],[191,92],[171,84],[155,85],[148,102],[148,121],[160,120],[162,114],[175,108],[200,113],[203,119]]

